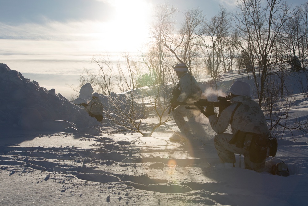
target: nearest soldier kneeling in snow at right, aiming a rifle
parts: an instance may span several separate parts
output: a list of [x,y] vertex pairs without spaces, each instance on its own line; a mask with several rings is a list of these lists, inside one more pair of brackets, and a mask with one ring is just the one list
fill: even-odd
[[[250,86],[236,81],[230,87],[231,105],[217,117],[213,107],[206,107],[205,116],[217,135],[214,145],[222,163],[235,163],[235,155],[243,154],[245,168],[262,171],[267,156],[270,131],[257,102],[250,97]],[[223,133],[229,124],[233,134]]]

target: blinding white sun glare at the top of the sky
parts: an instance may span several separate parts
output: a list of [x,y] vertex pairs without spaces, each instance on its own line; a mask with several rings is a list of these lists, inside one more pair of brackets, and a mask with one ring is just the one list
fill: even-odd
[[[152,5],[144,0],[113,0],[109,1],[115,8],[110,22],[102,27],[104,36],[114,49],[125,50],[140,48],[148,38],[149,21]],[[106,39],[102,40],[106,45]]]

